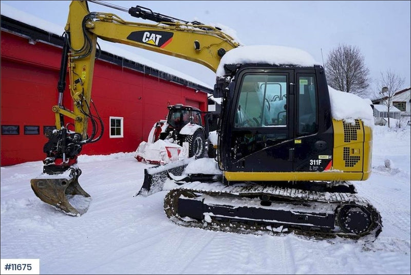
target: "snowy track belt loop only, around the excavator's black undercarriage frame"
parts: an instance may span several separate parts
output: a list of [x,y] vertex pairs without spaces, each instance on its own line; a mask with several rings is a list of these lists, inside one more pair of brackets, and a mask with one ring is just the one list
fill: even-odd
[[[248,225],[245,223],[233,223],[233,222],[219,222],[212,221],[211,223],[199,222],[195,219],[188,217],[180,217],[176,211],[178,198],[182,193],[201,193],[212,195],[218,197],[223,196],[259,196],[259,195],[270,195],[278,199],[288,199],[291,203],[298,203],[301,201],[304,204],[307,203],[326,203],[335,205],[335,228],[338,230],[338,210],[344,205],[357,205],[366,208],[371,213],[371,225],[368,231],[357,235],[354,233],[346,233],[343,231],[332,231],[332,232],[319,232],[318,230],[310,230],[310,227],[301,228],[288,228],[287,232],[274,232],[270,230],[267,225]],[[227,203],[225,203],[227,205]],[[361,239],[366,242],[375,241],[377,236],[382,230],[381,215],[371,203],[356,194],[352,193],[329,193],[329,192],[315,192],[315,191],[304,191],[300,189],[276,187],[269,185],[245,185],[237,184],[233,186],[224,186],[222,184],[204,184],[201,182],[191,182],[184,184],[180,188],[173,189],[166,194],[164,198],[164,211],[174,223],[185,226],[185,227],[196,227],[214,231],[224,231],[224,232],[236,232],[245,234],[282,234],[295,232],[296,234],[302,234],[306,236],[314,236],[320,238],[333,238],[336,236],[345,237],[348,239]]]

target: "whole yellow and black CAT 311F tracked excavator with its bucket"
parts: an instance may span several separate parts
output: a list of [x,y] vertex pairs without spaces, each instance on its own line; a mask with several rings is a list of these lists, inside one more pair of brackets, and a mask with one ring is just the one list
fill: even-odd
[[[351,182],[370,176],[372,130],[361,118],[333,117],[331,89],[320,64],[292,48],[242,46],[215,26],[140,6],[89,2],[155,24],[90,12],[87,1],[71,2],[58,104],[52,107],[57,130],[44,145],[43,173],[31,179],[42,201],[74,216],[87,211],[90,196],[79,184],[77,156],[103,132],[91,101],[100,38],[197,62],[216,72],[213,96],[222,99],[216,157],[147,168],[136,194],[166,190],[164,211],[171,221],[237,233],[376,240],[381,215]],[[62,102],[67,68],[72,111]],[[74,131],[64,118],[73,121]],[[197,171],[197,161],[214,162],[218,172]],[[168,181],[174,182],[169,190]]]

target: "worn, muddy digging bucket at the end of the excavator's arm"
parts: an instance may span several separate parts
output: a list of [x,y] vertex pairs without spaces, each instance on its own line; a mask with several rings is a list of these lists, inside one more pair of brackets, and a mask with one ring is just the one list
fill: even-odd
[[91,198],[79,184],[80,169],[70,168],[64,173],[41,174],[30,180],[31,189],[46,204],[68,215],[80,216],[87,212]]

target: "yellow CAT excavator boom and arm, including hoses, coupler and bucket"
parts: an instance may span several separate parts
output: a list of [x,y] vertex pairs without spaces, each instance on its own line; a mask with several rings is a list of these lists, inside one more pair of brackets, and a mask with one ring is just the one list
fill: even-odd
[[[92,111],[95,108],[91,101],[97,39],[189,60],[214,72],[221,57],[239,46],[231,36],[213,26],[189,23],[139,6],[120,10],[156,24],[124,21],[113,13],[90,12],[87,1],[72,1],[69,8],[63,35],[58,104],[52,107],[57,130],[47,135],[43,173],[31,179],[31,187],[45,203],[70,215],[85,213],[90,202],[89,194],[78,182],[81,170],[77,167],[77,156],[84,144],[98,141],[104,130],[97,109]],[[67,68],[72,110],[63,106]],[[72,122],[65,124],[66,118]],[[89,124],[91,131],[87,131]],[[69,129],[70,125],[73,129]],[[79,200],[83,201],[74,205],[73,202]]]

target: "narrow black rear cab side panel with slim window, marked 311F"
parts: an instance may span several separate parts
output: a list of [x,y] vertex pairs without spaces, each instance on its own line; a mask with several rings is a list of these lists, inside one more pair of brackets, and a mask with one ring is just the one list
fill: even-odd
[[332,126],[328,87],[321,71],[295,70],[293,170],[322,172],[332,165]]

